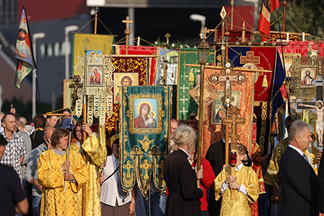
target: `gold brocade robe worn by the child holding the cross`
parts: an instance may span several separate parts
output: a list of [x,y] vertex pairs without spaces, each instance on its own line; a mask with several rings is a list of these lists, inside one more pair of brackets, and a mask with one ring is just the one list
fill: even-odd
[[219,200],[223,196],[221,203],[220,216],[250,216],[251,204],[256,202],[259,197],[259,179],[252,168],[243,166],[241,170],[236,171],[237,182],[246,188],[247,195],[235,190],[235,199],[231,199],[231,190],[228,187],[223,195],[221,194],[221,186],[229,177],[230,167],[226,167],[219,173],[214,180],[215,182],[215,199]]

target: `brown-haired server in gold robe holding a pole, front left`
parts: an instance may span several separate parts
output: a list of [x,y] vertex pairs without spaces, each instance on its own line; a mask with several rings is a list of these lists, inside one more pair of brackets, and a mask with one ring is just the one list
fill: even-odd
[[[88,181],[89,173],[80,153],[70,150],[68,160],[69,132],[57,128],[51,137],[52,150],[39,157],[39,183],[43,186],[41,197],[41,215],[79,216],[77,192]],[[64,193],[64,182],[66,190]]]

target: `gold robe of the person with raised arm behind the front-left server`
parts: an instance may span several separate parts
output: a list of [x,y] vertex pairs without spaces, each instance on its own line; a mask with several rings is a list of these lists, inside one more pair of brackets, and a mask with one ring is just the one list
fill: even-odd
[[[98,173],[101,164],[107,157],[105,142],[99,141],[99,139],[92,134],[82,144],[80,152],[83,152],[86,157],[85,164],[88,166],[90,175],[89,181],[85,184],[85,215],[101,216],[100,182]],[[82,191],[80,194],[82,194]]]

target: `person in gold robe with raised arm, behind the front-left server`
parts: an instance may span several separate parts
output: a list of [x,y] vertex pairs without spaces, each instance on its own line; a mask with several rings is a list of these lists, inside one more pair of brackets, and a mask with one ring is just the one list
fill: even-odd
[[[101,129],[101,128],[100,128]],[[81,145],[82,132],[85,131],[88,139]],[[104,131],[100,131],[102,133]],[[85,215],[101,216],[100,206],[100,182],[99,168],[107,157],[105,140],[100,140],[94,135],[90,126],[85,122],[79,121],[74,127],[74,138],[77,139],[71,145],[71,149],[79,151],[85,155],[85,164],[88,166],[90,178],[85,184]],[[79,192],[79,206],[82,207],[82,190]]]

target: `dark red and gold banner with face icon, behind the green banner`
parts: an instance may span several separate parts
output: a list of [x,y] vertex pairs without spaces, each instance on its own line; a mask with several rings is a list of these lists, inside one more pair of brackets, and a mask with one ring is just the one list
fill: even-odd
[[107,116],[105,121],[107,139],[116,134],[117,130],[116,123],[119,119],[119,102],[121,101],[118,86],[146,86],[146,74],[150,68],[150,61],[145,57],[114,57],[112,64],[116,69],[112,72],[114,81],[112,115]]

